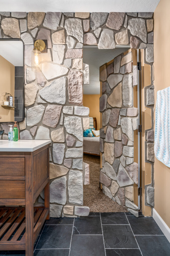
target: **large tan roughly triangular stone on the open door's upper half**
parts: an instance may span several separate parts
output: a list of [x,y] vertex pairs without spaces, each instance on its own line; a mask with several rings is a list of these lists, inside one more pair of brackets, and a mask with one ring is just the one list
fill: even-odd
[[112,107],[122,107],[122,83],[119,83],[118,86],[114,88],[112,94],[109,96],[107,101]]

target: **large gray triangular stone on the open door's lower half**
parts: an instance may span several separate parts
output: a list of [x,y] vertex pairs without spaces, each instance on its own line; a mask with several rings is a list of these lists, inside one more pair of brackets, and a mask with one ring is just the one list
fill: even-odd
[[119,172],[117,174],[117,183],[120,187],[133,185],[133,180],[129,177],[126,169],[122,166],[122,164],[119,165]]

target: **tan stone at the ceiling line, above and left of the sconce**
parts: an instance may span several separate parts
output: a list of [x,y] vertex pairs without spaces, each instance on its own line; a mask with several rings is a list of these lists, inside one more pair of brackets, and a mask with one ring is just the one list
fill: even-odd
[[39,27],[43,22],[45,13],[43,12],[29,12],[27,17],[28,29]]

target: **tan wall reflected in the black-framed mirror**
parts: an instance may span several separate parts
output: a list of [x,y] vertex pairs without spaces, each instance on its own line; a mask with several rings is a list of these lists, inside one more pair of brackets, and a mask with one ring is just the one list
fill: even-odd
[[[15,66],[0,55],[0,122],[14,121],[14,109],[3,108],[5,92],[12,95],[14,100],[15,90]],[[14,103],[13,103],[14,105]]]

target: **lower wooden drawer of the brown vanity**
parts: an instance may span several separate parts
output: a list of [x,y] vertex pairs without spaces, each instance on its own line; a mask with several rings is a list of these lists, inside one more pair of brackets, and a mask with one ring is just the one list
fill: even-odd
[[0,198],[24,199],[25,180],[0,180]]

